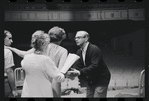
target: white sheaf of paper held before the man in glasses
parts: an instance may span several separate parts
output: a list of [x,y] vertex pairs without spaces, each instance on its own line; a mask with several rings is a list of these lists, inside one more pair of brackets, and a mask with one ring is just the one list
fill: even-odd
[[66,73],[79,58],[80,57],[78,55],[69,53],[64,66],[61,68],[61,72]]

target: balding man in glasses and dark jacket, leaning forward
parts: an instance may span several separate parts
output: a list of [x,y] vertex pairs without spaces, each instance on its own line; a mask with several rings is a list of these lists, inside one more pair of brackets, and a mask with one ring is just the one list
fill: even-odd
[[106,97],[111,74],[101,50],[89,42],[86,31],[78,31],[75,41],[80,47],[76,53],[80,59],[73,65],[73,71],[68,71],[67,74],[71,74],[70,78],[78,76],[87,82],[87,97]]

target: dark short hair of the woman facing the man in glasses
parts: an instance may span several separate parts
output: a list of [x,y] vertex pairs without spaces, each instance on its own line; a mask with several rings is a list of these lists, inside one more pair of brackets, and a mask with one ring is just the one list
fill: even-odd
[[63,35],[65,34],[65,31],[64,29],[55,26],[49,30],[48,34],[51,39],[50,42],[59,42],[63,40]]

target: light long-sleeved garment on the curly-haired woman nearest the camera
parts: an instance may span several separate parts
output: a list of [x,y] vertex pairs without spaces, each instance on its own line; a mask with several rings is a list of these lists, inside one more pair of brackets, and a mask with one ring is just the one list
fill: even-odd
[[[25,55],[21,65],[26,73],[22,97],[53,97],[52,79],[58,82],[65,79],[55,63],[45,55]],[[59,77],[62,79],[59,80]]]

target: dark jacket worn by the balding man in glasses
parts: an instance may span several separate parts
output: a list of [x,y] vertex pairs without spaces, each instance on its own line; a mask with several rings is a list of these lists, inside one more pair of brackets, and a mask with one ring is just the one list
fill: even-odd
[[85,64],[83,63],[82,51],[79,49],[76,53],[80,59],[76,61],[73,68],[80,71],[79,79],[84,79],[88,84],[108,85],[110,81],[110,71],[105,64],[101,50],[89,43],[85,55]]

